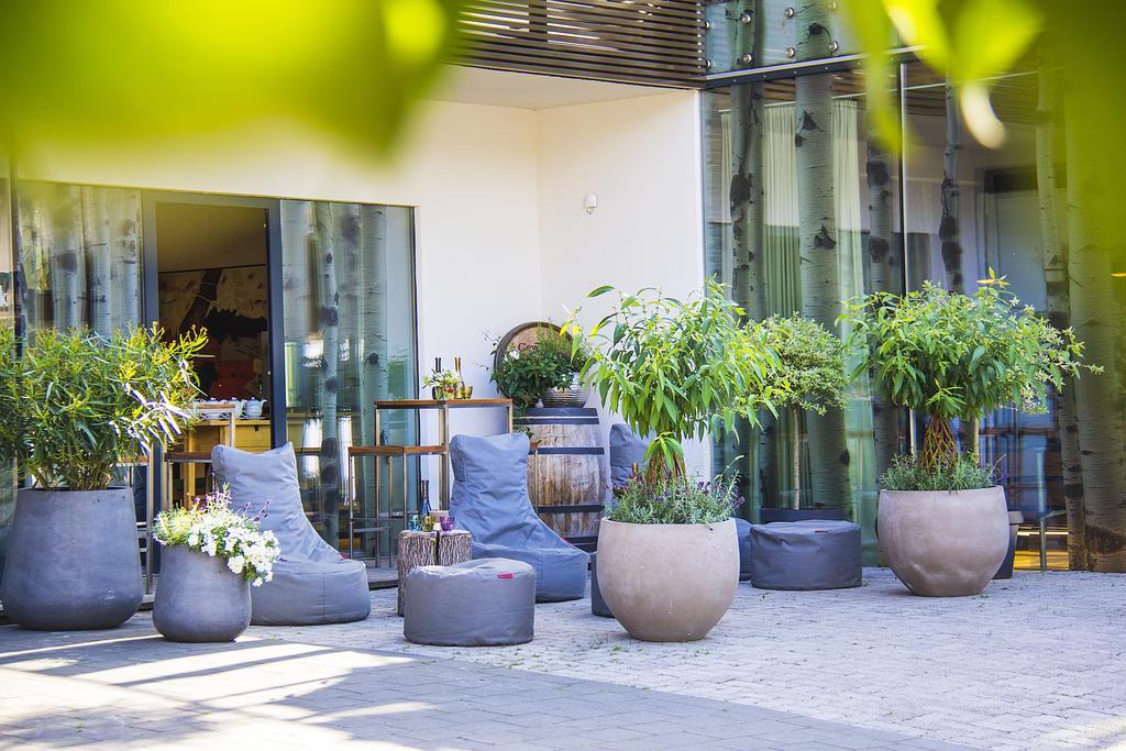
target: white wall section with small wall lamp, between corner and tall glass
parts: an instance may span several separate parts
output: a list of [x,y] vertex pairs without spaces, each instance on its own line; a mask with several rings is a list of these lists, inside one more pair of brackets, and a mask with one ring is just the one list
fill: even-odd
[[[682,296],[704,279],[699,98],[694,91],[538,113],[539,254],[544,316],[582,304],[604,284]],[[598,196],[588,214],[583,197]],[[607,295],[583,305],[597,321]],[[593,403],[593,401],[592,401]],[[614,420],[618,421],[618,420]],[[609,431],[609,420],[604,420]],[[686,447],[711,471],[706,445]]]

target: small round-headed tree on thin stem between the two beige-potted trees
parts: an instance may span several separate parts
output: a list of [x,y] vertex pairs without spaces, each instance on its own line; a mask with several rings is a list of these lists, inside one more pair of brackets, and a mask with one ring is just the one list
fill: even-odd
[[826,410],[844,408],[844,345],[816,321],[798,314],[789,318],[770,316],[758,324],[767,347],[777,356],[787,388],[776,400],[787,408],[793,420],[790,456],[794,463],[794,508],[802,506],[802,429],[803,410],[824,414]]

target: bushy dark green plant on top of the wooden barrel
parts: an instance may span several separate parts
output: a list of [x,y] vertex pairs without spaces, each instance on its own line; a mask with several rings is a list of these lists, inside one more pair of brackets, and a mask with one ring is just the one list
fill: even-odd
[[554,328],[539,327],[536,343],[510,348],[493,369],[491,379],[517,406],[528,408],[545,388],[573,385],[586,356],[581,346],[572,348],[570,337]]

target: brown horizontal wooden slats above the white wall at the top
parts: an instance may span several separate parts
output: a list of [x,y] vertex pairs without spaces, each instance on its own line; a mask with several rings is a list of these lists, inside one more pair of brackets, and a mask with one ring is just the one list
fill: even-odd
[[705,73],[692,0],[468,0],[461,27],[466,65],[681,88]]

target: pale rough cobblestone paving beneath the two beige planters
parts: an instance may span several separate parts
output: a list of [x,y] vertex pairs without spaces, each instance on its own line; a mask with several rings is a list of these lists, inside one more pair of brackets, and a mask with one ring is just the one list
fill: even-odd
[[1126,575],[1017,572],[981,596],[913,597],[882,569],[857,590],[749,584],[712,635],[631,640],[589,600],[536,608],[536,641],[504,649],[409,644],[394,590],[357,626],[252,629],[320,644],[769,707],[995,749],[1126,748]]

